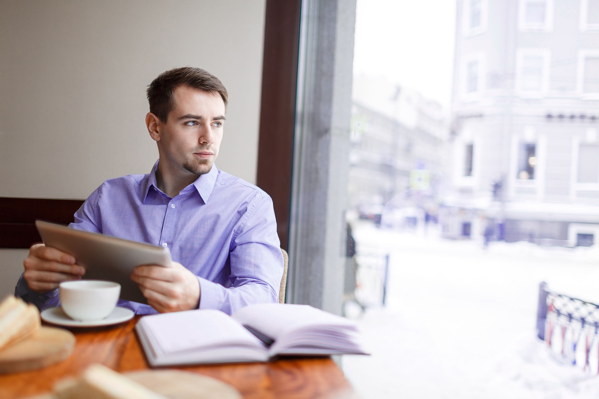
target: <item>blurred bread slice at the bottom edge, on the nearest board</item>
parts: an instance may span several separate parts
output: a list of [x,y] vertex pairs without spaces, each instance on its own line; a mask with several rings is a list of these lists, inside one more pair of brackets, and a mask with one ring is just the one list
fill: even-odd
[[59,399],[167,399],[101,364],[92,364],[81,377],[59,382]]

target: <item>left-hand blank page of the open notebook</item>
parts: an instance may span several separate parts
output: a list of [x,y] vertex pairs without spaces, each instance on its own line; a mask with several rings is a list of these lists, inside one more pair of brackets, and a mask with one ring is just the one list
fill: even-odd
[[162,313],[141,319],[156,352],[173,353],[195,348],[247,345],[265,348],[231,317],[219,310],[187,310]]

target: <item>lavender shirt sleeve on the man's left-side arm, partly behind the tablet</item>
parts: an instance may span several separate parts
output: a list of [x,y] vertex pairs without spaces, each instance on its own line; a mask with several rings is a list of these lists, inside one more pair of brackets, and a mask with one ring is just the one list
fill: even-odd
[[[98,220],[96,219],[96,215],[98,214],[98,197],[101,188],[102,186],[98,187],[81,205],[81,208],[75,212],[75,222],[69,224],[69,227],[86,230],[87,232],[101,233],[98,229]],[[14,296],[20,297],[28,303],[35,304],[41,311],[49,307],[60,306],[58,291],[58,288],[55,288],[46,294],[38,294],[29,289],[29,285],[27,285],[25,278],[21,275],[16,287],[14,287]]]

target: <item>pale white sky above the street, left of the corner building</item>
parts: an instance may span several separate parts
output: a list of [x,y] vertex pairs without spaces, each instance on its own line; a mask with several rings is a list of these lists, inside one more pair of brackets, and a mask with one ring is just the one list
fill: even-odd
[[455,0],[358,0],[354,74],[382,76],[449,108]]

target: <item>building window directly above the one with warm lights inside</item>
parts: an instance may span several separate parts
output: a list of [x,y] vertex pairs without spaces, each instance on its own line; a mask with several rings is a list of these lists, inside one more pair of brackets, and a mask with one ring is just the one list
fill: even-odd
[[516,89],[521,95],[539,95],[549,86],[549,51],[543,48],[518,50]]

